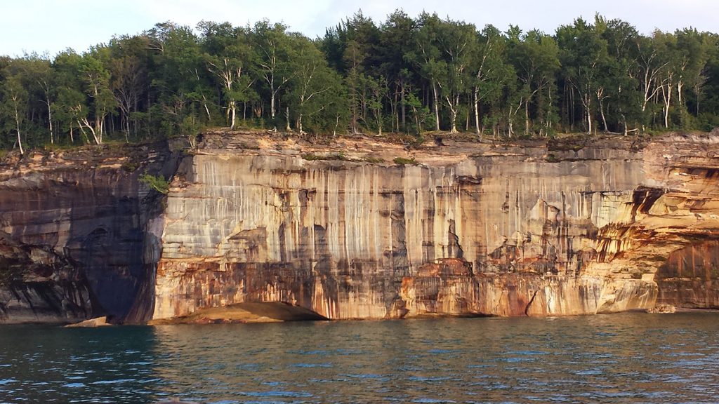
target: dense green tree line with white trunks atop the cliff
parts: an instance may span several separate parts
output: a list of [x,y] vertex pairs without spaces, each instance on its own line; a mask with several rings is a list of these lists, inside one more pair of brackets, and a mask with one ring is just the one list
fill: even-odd
[[0,57],[0,146],[239,126],[313,136],[710,130],[718,44],[710,32],[642,35],[600,15],[549,35],[399,10],[377,24],[358,12],[314,40],[266,20],[165,22],[81,54]]

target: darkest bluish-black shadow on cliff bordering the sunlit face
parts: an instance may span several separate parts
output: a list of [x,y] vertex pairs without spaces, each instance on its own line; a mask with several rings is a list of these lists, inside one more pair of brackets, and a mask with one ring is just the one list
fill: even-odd
[[92,316],[108,316],[113,323],[143,323],[152,314],[161,244],[149,226],[162,215],[165,195],[145,190],[138,178],[142,173],[171,178],[180,155],[165,145],[156,158],[130,173],[95,170],[71,198],[65,254],[86,279]]

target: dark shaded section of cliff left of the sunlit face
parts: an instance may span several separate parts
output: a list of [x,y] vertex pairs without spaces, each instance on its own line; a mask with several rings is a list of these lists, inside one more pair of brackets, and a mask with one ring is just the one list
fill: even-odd
[[157,261],[152,246],[159,252],[148,231],[157,198],[137,180],[145,170],[174,172],[167,147],[35,154],[1,167],[0,323],[131,312]]

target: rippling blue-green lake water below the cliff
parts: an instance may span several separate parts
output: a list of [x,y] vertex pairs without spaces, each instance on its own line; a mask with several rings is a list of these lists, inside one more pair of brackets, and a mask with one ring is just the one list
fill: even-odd
[[0,326],[0,403],[716,403],[719,314]]

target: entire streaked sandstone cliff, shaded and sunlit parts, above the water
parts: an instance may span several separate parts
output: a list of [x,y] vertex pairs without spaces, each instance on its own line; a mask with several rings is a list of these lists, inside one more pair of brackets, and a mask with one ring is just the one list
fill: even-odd
[[[178,165],[147,150],[132,172],[17,162],[0,174],[0,252],[25,272],[0,288],[0,321],[41,300],[125,321],[716,308],[718,142],[234,133]],[[174,173],[166,198],[137,183],[147,170]]]

